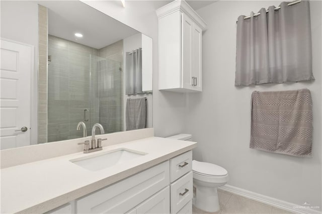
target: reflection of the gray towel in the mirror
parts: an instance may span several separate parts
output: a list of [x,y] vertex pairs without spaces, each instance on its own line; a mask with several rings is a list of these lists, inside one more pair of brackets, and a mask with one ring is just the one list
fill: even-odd
[[126,131],[146,128],[145,98],[126,100]]

